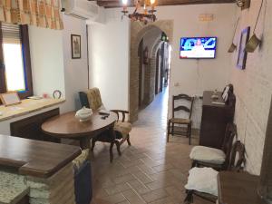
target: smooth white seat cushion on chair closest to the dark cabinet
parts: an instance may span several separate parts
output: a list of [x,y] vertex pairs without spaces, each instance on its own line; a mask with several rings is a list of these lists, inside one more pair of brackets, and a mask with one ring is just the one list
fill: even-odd
[[200,160],[214,164],[222,164],[226,160],[224,151],[204,146],[195,146],[189,153],[191,160]]

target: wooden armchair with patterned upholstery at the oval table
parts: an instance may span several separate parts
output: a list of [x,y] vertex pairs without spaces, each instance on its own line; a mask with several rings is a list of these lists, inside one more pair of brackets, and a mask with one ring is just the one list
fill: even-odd
[[[92,112],[99,112],[99,111],[105,110],[102,104],[102,98],[98,88],[92,88],[86,92],[79,92],[79,95],[80,95],[80,101],[82,103],[82,106],[91,108]],[[113,132],[112,130],[103,131],[101,134],[92,138],[91,151],[93,151],[96,141],[111,143],[110,160],[112,162],[113,160],[112,149],[114,144],[117,147],[117,151],[119,155],[121,155],[120,147],[124,141],[127,141],[128,144],[131,146],[130,134],[129,134],[129,132],[131,131],[131,123],[126,121],[126,115],[128,115],[129,112],[122,111],[122,110],[112,110],[111,112],[116,113],[118,118],[118,120],[115,122],[113,127],[114,131]]]

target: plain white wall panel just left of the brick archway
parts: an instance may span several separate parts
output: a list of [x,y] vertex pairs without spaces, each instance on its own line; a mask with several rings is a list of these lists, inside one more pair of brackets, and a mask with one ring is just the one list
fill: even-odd
[[90,86],[98,87],[107,109],[129,108],[130,24],[106,12],[105,24],[89,25]]

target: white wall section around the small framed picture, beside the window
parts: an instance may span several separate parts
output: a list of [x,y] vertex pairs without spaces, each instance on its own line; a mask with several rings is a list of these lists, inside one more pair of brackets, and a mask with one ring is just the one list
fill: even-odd
[[[34,94],[60,90],[61,112],[69,112],[81,108],[78,92],[88,88],[87,37],[85,21],[63,15],[63,24],[62,31],[30,26],[29,38]],[[82,36],[81,59],[72,59],[71,34]]]

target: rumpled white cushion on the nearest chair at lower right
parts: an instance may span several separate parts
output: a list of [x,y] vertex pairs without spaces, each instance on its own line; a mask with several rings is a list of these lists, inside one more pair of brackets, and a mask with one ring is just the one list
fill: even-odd
[[189,170],[188,182],[185,185],[185,189],[194,189],[199,192],[218,196],[218,174],[219,172],[212,168],[194,167]]

